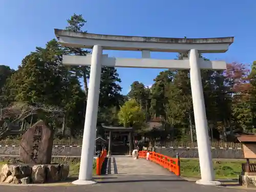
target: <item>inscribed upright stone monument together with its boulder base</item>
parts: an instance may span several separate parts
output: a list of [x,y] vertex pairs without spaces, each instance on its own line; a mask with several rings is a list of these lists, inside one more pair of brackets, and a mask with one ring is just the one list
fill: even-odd
[[4,164],[0,169],[0,183],[29,184],[65,181],[68,164],[51,164],[53,131],[40,120],[22,137],[19,157],[22,162]]

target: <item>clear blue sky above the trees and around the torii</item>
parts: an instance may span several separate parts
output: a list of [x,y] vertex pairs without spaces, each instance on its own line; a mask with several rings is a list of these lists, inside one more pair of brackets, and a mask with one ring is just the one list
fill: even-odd
[[[237,3],[236,3],[237,2]],[[89,33],[155,37],[234,36],[226,53],[205,54],[209,59],[251,63],[256,60],[256,1],[231,0],[0,0],[0,63],[16,69],[36,46],[54,38],[73,13],[88,21]],[[141,56],[140,52],[104,51],[116,57]],[[176,58],[176,53],[152,53],[153,58]],[[161,70],[118,69],[123,93],[138,80],[146,86]]]

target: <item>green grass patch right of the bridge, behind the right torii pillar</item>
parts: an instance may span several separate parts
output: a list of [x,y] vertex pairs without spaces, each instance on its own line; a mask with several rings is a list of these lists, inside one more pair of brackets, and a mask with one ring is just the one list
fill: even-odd
[[[242,171],[241,163],[245,160],[212,160],[216,179],[237,179]],[[182,177],[200,178],[198,159],[181,159],[180,172]]]

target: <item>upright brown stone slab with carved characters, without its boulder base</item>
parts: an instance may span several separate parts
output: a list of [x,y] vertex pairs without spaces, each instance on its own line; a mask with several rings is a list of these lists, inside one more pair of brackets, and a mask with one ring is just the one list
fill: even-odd
[[19,148],[20,159],[27,164],[50,164],[52,146],[53,131],[40,120],[23,135]]

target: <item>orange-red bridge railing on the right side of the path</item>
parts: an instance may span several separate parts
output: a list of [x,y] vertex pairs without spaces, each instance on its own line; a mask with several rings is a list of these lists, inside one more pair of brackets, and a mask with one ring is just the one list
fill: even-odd
[[[146,159],[147,151],[139,151],[139,158]],[[148,160],[153,161],[160,166],[173,172],[175,175],[180,176],[180,158],[177,155],[176,158],[167,157],[165,155],[150,152]]]

